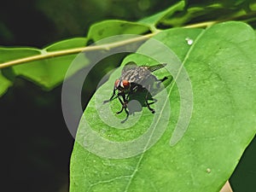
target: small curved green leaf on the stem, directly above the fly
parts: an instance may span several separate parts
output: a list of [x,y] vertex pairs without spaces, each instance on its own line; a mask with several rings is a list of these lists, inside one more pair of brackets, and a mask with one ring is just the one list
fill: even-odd
[[104,20],[90,26],[88,38],[94,42],[121,34],[144,34],[149,32],[147,25],[125,20]]

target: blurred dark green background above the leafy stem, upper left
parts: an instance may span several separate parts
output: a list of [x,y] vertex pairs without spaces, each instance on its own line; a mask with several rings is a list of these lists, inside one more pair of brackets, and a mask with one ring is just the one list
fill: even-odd
[[63,38],[84,36],[100,20],[139,20],[175,1],[152,0],[24,0],[0,6],[2,45],[41,48]]

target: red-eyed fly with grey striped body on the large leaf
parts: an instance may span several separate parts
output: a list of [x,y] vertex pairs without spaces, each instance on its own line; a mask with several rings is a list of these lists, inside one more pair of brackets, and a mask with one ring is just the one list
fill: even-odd
[[[122,105],[122,108],[117,112],[117,114],[122,113],[125,110],[126,120],[129,117],[127,105],[130,96],[137,92],[145,91],[146,94],[144,99],[146,106],[151,113],[154,113],[154,108],[150,108],[149,106],[152,103],[148,103],[148,98],[149,96],[152,98],[151,90],[153,89],[154,84],[156,84],[157,87],[160,87],[160,83],[167,78],[157,79],[152,72],[165,66],[166,63],[154,66],[137,66],[135,62],[127,63],[122,70],[121,77],[116,79],[114,82],[112,96],[109,100],[104,101],[104,103],[110,102],[117,97]],[[123,120],[122,123],[124,123],[125,120]]]

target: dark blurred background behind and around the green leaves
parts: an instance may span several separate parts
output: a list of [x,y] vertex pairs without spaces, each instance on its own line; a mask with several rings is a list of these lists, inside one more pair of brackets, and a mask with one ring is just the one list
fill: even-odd
[[[0,45],[43,48],[61,39],[86,36],[96,21],[139,20],[170,5],[172,1],[157,0],[4,1]],[[73,137],[62,117],[61,86],[47,92],[27,80],[15,79],[0,98],[0,117],[1,189],[67,192]],[[256,189],[255,148],[254,139],[230,179],[234,191]]]

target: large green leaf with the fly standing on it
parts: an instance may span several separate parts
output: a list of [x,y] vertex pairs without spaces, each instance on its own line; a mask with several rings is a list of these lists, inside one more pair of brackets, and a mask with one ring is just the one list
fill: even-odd
[[[188,38],[194,40],[193,44],[188,44]],[[125,114],[113,114],[120,108],[118,101],[109,105],[113,113],[102,113],[106,108],[102,101],[111,95],[113,80],[120,74],[121,69],[118,69],[96,91],[79,124],[71,159],[71,192],[216,192],[230,177],[241,154],[254,137],[256,40],[249,26],[227,22],[207,30],[176,28],[160,32],[155,39],[172,49],[189,73],[193,87],[193,114],[188,130],[177,144],[170,146],[182,102],[180,94],[183,90],[178,90],[176,84],[166,88],[167,97],[163,97],[162,92],[165,91],[155,96],[158,101],[154,107],[163,104],[155,114],[143,108],[142,112],[131,115],[121,124]],[[147,46],[145,43],[138,52],[148,49]],[[154,49],[154,55],[165,55],[158,50]],[[125,61],[154,63],[143,57],[131,55]],[[173,63],[169,61],[168,64]],[[167,117],[170,114],[168,102],[172,106],[170,119]],[[100,142],[136,141],[151,129],[151,123],[155,125],[154,131],[163,129],[166,124],[167,129],[158,143],[142,154],[126,159],[111,159],[90,152],[101,154],[105,150],[105,156],[110,154],[115,158],[125,155],[131,150],[130,145],[119,154],[114,154],[119,148],[114,145],[108,148],[111,144],[104,146]],[[99,137],[104,139],[98,140]],[[153,138],[151,135],[148,141],[144,141],[145,148]],[[132,150],[140,148],[133,147]]]

